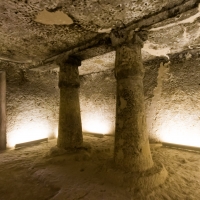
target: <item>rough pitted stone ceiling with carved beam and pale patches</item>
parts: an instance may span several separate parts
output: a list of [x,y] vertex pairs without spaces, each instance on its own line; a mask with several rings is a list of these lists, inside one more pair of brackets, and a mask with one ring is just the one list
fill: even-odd
[[122,29],[148,30],[150,55],[198,50],[199,0],[2,0],[0,59],[35,64],[81,45],[87,59],[112,51],[109,34]]

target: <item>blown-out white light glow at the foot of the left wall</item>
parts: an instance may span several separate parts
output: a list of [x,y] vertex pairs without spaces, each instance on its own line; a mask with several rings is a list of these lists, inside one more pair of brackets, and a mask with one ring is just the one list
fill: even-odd
[[52,129],[48,121],[29,121],[8,134],[7,146],[12,148],[19,143],[48,138],[49,135],[52,135]]

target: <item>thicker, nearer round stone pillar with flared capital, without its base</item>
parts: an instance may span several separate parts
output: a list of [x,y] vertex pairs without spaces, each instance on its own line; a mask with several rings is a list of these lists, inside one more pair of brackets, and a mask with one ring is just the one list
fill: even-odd
[[153,166],[143,93],[141,48],[145,34],[139,34],[132,31],[127,35],[111,36],[116,46],[117,80],[114,161],[119,168],[132,172],[145,171]]

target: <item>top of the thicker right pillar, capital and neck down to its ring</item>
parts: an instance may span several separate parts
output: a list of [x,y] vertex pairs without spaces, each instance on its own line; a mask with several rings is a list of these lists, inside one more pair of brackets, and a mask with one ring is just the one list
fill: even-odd
[[115,77],[119,79],[143,79],[141,48],[147,39],[146,31],[113,32],[112,43],[116,47]]

